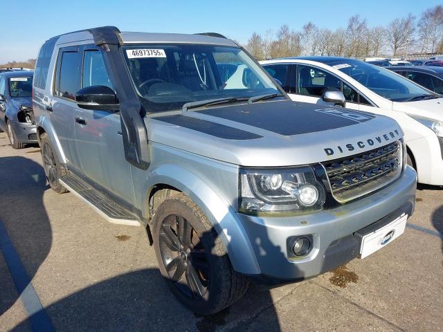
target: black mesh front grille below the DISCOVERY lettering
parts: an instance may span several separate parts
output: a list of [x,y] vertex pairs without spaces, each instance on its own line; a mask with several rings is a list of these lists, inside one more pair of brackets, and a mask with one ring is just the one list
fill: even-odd
[[332,196],[344,203],[378,190],[401,174],[401,144],[392,142],[383,147],[354,156],[322,163]]

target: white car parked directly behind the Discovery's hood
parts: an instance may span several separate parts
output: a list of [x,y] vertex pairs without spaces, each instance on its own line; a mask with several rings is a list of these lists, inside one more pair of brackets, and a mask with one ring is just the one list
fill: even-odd
[[[408,163],[420,183],[443,185],[443,98],[391,71],[344,57],[299,57],[261,62],[267,71],[287,68],[284,90],[292,100],[334,106],[337,89],[350,109],[383,114],[405,132]],[[413,68],[413,67],[411,67]]]

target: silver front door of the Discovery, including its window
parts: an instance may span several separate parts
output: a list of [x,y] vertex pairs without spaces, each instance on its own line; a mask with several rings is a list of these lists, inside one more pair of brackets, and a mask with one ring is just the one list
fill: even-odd
[[[83,46],[82,88],[109,86],[102,53],[93,45]],[[120,113],[75,109],[75,138],[83,174],[99,189],[127,205],[135,203],[130,164],[125,158]]]

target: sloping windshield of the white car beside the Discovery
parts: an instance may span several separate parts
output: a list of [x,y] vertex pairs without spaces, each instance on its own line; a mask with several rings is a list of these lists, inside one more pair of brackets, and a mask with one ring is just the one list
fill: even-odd
[[388,71],[388,69],[367,64],[359,60],[343,60],[329,63],[329,66],[343,71],[372,92],[392,102],[409,102],[435,98],[435,95],[410,80]]

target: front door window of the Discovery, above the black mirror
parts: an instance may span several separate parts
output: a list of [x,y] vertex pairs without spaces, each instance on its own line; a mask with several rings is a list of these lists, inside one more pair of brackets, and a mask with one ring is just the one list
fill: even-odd
[[112,89],[102,53],[99,50],[84,52],[82,87],[91,85],[104,85]]

